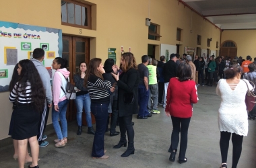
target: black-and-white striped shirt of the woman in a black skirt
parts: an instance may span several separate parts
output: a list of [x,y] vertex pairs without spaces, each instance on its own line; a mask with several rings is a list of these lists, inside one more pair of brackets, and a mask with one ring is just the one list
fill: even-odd
[[27,86],[25,88],[25,94],[23,93],[23,90],[18,87],[18,91],[16,91],[18,87],[18,83],[14,86],[12,89],[10,95],[9,95],[9,100],[11,102],[14,102],[15,99],[18,99],[19,103],[31,103],[32,102],[32,94],[31,94],[31,84],[30,82],[27,82]]

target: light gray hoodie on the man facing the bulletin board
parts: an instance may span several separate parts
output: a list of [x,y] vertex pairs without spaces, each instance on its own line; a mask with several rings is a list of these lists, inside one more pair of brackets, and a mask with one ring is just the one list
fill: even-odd
[[34,66],[36,66],[36,69],[42,80],[42,85],[44,86],[44,90],[46,93],[47,103],[51,104],[53,103],[53,94],[52,94],[51,83],[50,83],[50,75],[46,70],[46,68],[44,67],[44,65],[42,65],[42,62],[34,58],[32,58],[31,60],[34,63]]

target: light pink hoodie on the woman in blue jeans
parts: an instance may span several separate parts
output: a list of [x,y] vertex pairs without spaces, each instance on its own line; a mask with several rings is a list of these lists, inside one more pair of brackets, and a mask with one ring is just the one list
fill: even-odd
[[[67,77],[69,77],[69,71],[67,71],[67,69],[58,69],[54,76],[53,76],[53,104],[57,105],[59,103],[59,101],[63,101],[65,99],[67,99],[65,97],[65,94],[63,94],[63,91],[61,89],[61,83],[63,83],[63,78],[61,77],[60,72],[62,75],[65,76],[65,79],[67,79]],[[65,89],[65,88],[64,88]],[[63,96],[61,96],[61,93]]]

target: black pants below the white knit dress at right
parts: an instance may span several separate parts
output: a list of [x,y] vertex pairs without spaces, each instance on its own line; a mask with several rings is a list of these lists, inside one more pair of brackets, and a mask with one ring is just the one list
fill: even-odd
[[[222,154],[222,163],[226,163],[228,158],[228,145],[230,140],[230,132],[220,132],[220,153]],[[232,168],[237,167],[237,163],[242,153],[243,136],[232,133],[233,155]]]

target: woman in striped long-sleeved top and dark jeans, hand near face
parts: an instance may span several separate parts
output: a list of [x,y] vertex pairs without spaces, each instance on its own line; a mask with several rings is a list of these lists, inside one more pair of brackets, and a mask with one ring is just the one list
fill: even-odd
[[91,97],[92,114],[94,114],[96,120],[92,157],[107,159],[108,155],[105,155],[106,150],[104,150],[104,134],[108,118],[109,96],[110,92],[115,91],[115,87],[111,86],[110,81],[106,81],[106,73],[100,58],[90,60],[84,80]]

